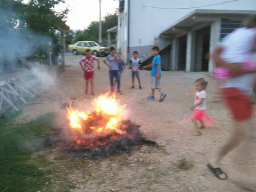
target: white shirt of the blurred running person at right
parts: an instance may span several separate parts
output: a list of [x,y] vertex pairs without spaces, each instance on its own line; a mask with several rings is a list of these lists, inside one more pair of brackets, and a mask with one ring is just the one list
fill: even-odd
[[[220,46],[224,48],[221,58],[229,63],[241,63],[253,58],[256,28],[239,28],[228,34]],[[242,91],[250,91],[253,86],[254,74],[243,74],[226,79],[222,88],[238,88]]]

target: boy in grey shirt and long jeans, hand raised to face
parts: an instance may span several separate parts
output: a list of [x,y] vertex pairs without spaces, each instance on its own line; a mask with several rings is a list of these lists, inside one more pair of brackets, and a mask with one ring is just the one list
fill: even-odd
[[[108,61],[108,62],[106,62]],[[123,93],[120,90],[120,75],[119,75],[119,68],[118,68],[118,63],[120,62],[120,58],[118,55],[116,55],[116,49],[114,47],[110,48],[110,55],[106,56],[104,59],[104,64],[108,66],[110,69],[109,75],[110,75],[110,87],[111,87],[111,92],[114,93],[114,77],[116,78],[117,81],[117,94],[122,95]]]

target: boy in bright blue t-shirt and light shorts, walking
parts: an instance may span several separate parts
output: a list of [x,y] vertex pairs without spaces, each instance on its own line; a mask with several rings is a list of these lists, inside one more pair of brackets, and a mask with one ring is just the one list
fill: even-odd
[[152,92],[152,94],[151,94],[151,96],[147,97],[147,99],[148,100],[156,100],[155,90],[157,89],[160,93],[159,101],[161,102],[166,97],[166,94],[164,92],[161,92],[162,71],[161,71],[161,57],[159,55],[159,47],[154,46],[152,48],[152,53],[154,55],[153,62],[150,65],[143,67],[143,69],[152,67],[152,70],[151,70],[151,92]]

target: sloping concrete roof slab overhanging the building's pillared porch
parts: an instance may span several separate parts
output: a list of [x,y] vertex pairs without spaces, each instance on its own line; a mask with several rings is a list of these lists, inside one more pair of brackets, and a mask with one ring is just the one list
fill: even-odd
[[183,18],[179,19],[173,25],[160,32],[163,38],[173,38],[178,34],[185,34],[188,31],[195,31],[209,26],[220,18],[240,18],[243,19],[250,14],[255,13],[253,10],[212,10],[196,9]]

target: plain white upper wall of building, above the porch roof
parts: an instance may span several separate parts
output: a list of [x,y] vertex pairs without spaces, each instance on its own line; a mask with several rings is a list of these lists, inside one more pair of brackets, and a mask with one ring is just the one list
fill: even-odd
[[[160,31],[164,30],[168,26],[177,22],[180,18],[188,14],[195,9],[181,9],[181,10],[169,10],[169,9],[155,9],[151,7],[162,8],[187,8],[197,7],[211,4],[222,3],[223,0],[130,0],[131,1],[131,20],[130,20],[130,47],[143,48],[144,52],[150,52],[150,47],[154,45],[154,38],[158,36]],[[125,9],[120,14],[122,25],[119,26],[119,47],[124,50],[127,46],[127,26],[126,26],[126,13],[128,0],[125,0]],[[203,7],[199,9],[220,9],[220,10],[253,10],[256,9],[255,0],[244,0],[237,2],[230,2],[226,4]],[[126,56],[126,54],[125,54]]]

